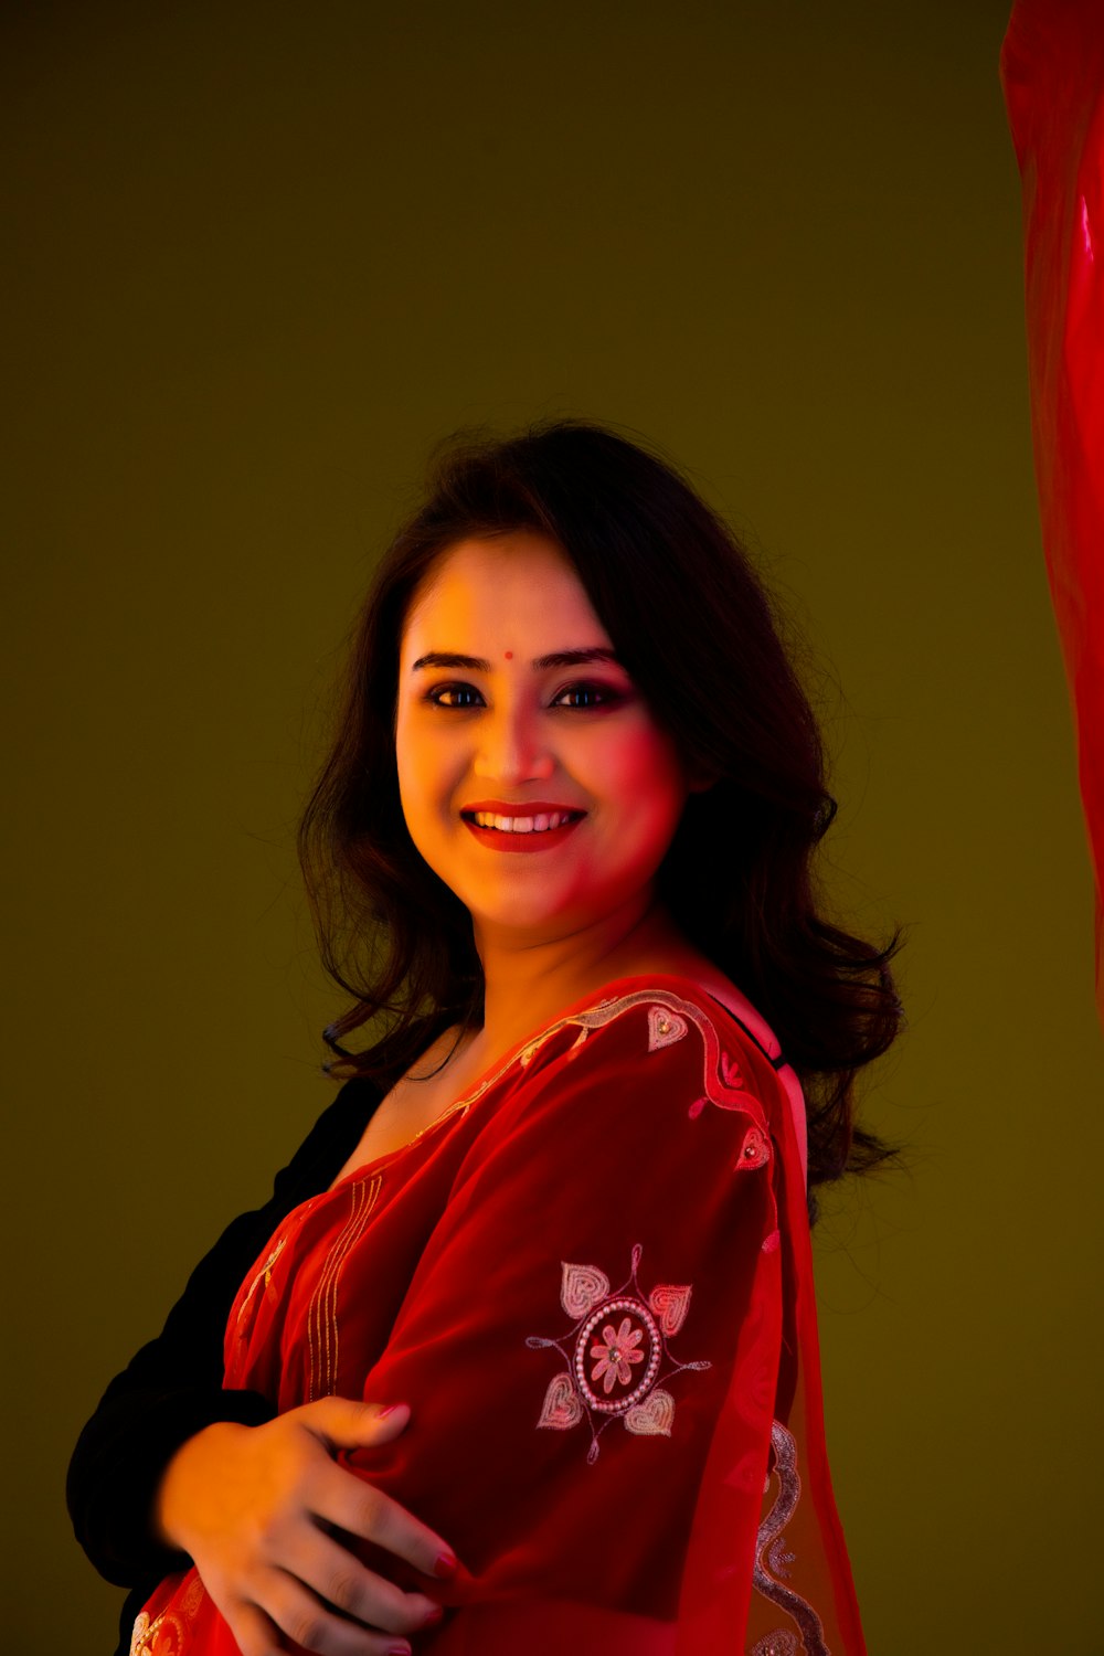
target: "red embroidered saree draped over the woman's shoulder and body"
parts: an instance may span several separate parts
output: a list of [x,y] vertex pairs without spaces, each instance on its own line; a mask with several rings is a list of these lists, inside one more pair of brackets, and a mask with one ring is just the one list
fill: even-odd
[[[430,1585],[362,1548],[450,1606],[415,1651],[864,1651],[824,1451],[799,1088],[730,1005],[742,1022],[682,977],[606,985],[296,1207],[242,1283],[227,1386],[280,1409],[412,1408],[401,1437],[343,1461],[463,1562]],[[237,1644],[189,1570],[132,1651]]]

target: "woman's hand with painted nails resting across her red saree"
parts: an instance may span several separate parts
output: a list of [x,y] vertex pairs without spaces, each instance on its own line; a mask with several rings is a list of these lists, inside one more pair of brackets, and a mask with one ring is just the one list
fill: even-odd
[[324,1528],[336,1524],[425,1575],[452,1575],[439,1535],[334,1461],[338,1449],[389,1442],[409,1419],[404,1403],[321,1398],[265,1426],[217,1421],[169,1461],[154,1522],[194,1560],[242,1656],[286,1649],[281,1633],[318,1656],[386,1656],[409,1651],[394,1634],[439,1620],[430,1598],[374,1575]]

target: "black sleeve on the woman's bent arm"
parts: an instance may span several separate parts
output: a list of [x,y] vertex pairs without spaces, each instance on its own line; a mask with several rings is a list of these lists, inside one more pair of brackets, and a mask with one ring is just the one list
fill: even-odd
[[271,1232],[293,1207],[328,1189],[377,1103],[371,1081],[346,1081],[276,1174],[270,1201],[227,1225],[162,1331],[116,1374],[78,1437],[66,1479],[70,1517],[108,1581],[152,1591],[190,1563],[154,1537],[149,1519],[161,1474],[187,1437],[214,1421],[258,1426],[275,1416],[260,1393],[222,1389],[227,1317]]

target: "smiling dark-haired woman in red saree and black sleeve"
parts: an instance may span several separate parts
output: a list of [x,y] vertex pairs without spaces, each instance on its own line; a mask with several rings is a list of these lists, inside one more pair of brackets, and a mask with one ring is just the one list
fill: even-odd
[[900,1009],[816,912],[833,811],[670,465],[439,457],[301,833],[346,1085],[73,1459],[136,1653],[862,1651],[806,1201],[886,1158]]

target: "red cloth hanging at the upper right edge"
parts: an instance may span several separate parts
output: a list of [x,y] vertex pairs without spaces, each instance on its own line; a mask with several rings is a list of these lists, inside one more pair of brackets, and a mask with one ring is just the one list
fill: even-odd
[[1043,550],[1073,697],[1104,1022],[1104,10],[1016,0],[1000,55],[1023,179]]

